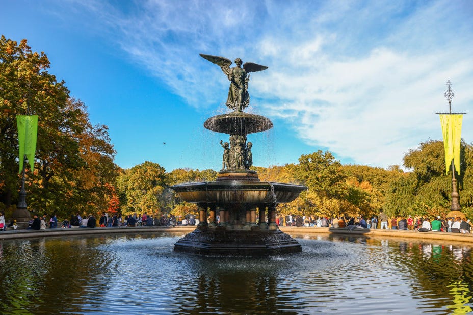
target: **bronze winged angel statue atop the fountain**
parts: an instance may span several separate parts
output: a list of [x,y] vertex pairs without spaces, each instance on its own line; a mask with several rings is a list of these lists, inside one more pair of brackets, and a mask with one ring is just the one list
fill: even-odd
[[[261,66],[252,62],[245,62],[242,66],[240,58],[235,59],[236,67],[230,68],[231,60],[224,57],[204,55],[201,57],[220,66],[223,73],[225,73],[230,81],[230,88],[228,89],[228,98],[226,105],[228,108],[241,112],[250,103],[250,95],[248,94],[248,81],[250,80],[249,72],[257,72],[268,69],[266,66]],[[247,75],[248,74],[248,75]]]

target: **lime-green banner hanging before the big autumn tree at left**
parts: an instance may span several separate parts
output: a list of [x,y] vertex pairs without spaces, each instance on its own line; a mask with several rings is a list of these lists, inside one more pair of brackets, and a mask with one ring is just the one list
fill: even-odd
[[23,170],[24,155],[30,163],[31,172],[35,166],[36,138],[38,135],[38,115],[16,115],[18,126],[18,148],[20,151],[20,173]]

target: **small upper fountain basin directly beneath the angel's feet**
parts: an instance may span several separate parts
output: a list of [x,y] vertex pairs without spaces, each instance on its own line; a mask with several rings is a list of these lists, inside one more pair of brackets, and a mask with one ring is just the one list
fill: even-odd
[[233,112],[208,118],[204,127],[218,133],[248,135],[271,129],[273,123],[264,116]]

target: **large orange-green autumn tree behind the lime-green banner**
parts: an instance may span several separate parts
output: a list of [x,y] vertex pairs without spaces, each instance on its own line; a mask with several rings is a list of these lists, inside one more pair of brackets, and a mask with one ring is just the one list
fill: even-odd
[[86,107],[70,99],[64,81],[48,73],[44,52],[26,40],[0,37],[0,202],[18,197],[16,115],[36,114],[38,140],[35,172],[28,172],[30,209],[51,215],[89,212],[102,207],[106,182],[114,181],[115,150],[106,126],[92,126]]

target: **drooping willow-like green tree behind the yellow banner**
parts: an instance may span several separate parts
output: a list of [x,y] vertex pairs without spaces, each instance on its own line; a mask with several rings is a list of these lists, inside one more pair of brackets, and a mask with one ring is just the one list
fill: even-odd
[[[473,205],[473,148],[462,141],[459,182],[460,205],[465,213]],[[429,140],[404,156],[404,166],[412,172],[391,182],[384,209],[389,216],[448,213],[451,205],[452,171],[445,174],[443,142]],[[465,187],[465,189],[463,189]]]

